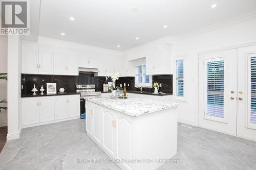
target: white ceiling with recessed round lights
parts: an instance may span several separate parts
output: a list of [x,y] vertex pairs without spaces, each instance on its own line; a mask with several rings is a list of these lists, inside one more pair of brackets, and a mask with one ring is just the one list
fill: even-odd
[[256,0],[41,0],[39,35],[124,51],[254,10]]

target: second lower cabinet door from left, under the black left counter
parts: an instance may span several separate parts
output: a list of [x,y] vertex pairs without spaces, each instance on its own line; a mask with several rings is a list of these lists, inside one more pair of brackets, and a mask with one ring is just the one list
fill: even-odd
[[44,96],[39,99],[39,123],[54,120],[54,97]]

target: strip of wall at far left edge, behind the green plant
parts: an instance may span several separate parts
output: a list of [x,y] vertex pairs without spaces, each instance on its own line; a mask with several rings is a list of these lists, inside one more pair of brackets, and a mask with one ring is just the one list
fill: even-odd
[[[0,72],[7,72],[7,37],[0,37]],[[7,99],[7,81],[0,81],[0,100]],[[1,106],[7,106],[2,104]],[[7,126],[7,111],[2,110],[0,113],[0,127]]]

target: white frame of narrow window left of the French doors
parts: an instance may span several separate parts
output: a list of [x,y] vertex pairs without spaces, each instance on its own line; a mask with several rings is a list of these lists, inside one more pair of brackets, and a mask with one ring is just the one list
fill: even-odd
[[[177,96],[177,60],[183,60],[183,96]],[[175,101],[187,102],[187,54],[174,56],[173,95]]]

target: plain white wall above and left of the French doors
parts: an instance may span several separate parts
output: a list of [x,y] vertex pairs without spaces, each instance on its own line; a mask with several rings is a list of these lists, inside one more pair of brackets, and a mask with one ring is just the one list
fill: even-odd
[[187,56],[187,102],[179,107],[179,122],[198,125],[198,53],[256,44],[256,19],[174,42],[172,56]]

